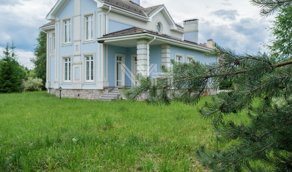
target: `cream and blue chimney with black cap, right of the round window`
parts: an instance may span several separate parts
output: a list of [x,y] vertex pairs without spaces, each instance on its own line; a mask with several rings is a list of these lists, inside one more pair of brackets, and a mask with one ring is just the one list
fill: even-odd
[[184,40],[198,44],[199,20],[197,18],[193,18],[183,22]]

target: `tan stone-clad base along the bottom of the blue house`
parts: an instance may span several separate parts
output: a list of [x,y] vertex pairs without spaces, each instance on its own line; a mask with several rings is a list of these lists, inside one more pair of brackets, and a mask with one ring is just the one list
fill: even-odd
[[[98,100],[100,97],[102,97],[104,94],[107,94],[110,92],[113,88],[105,88],[104,90],[71,90],[71,89],[62,89],[61,91],[61,97],[66,98],[76,98],[76,99],[91,99],[91,100]],[[118,99],[122,98],[121,94],[121,88],[119,88],[120,96]],[[49,88],[49,93],[54,94],[57,97],[60,96],[59,89],[53,89]],[[214,89],[207,89],[205,92],[205,95],[216,95],[217,90]],[[168,94],[169,96],[170,94]],[[147,98],[147,93],[144,93],[139,99],[144,100]]]

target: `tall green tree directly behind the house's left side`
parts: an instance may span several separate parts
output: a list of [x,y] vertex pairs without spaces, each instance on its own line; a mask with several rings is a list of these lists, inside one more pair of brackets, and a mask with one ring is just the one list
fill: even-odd
[[47,66],[47,34],[39,32],[39,36],[36,38],[37,44],[34,49],[34,56],[30,61],[34,63],[34,72],[36,78],[43,80],[42,89],[46,89],[46,66]]

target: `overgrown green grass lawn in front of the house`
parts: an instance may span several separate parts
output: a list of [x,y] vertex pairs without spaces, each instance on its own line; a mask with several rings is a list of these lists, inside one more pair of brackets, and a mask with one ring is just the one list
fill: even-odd
[[[203,171],[199,143],[227,145],[214,141],[200,105],[0,94],[0,171]],[[230,119],[248,123],[244,114]]]

